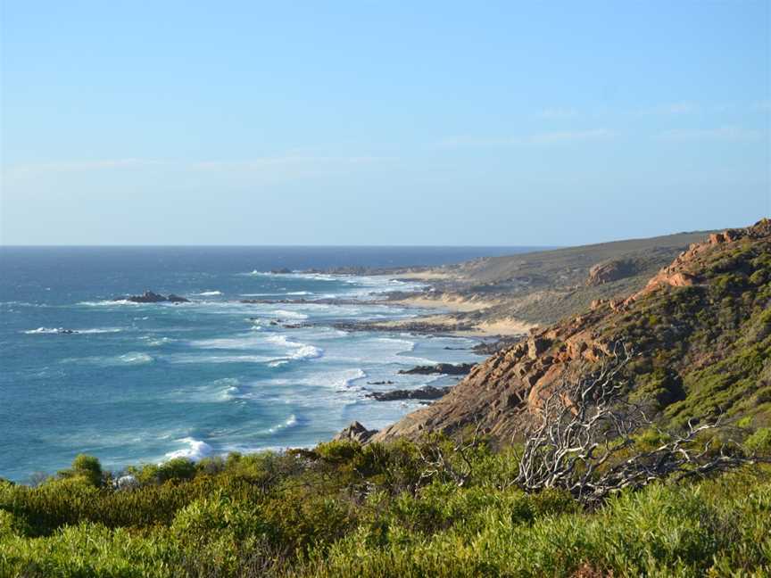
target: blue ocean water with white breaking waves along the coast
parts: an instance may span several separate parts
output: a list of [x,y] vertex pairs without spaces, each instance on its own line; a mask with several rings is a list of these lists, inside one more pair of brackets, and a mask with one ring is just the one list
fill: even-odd
[[[0,477],[52,473],[80,452],[119,469],[308,446],[354,419],[368,427],[392,423],[419,406],[369,400],[367,391],[452,384],[448,376],[397,371],[478,359],[468,351],[474,342],[332,326],[416,316],[420,310],[387,306],[377,296],[419,284],[265,271],[435,265],[523,250],[0,248]],[[145,289],[192,302],[112,301]],[[299,297],[367,302],[238,302]],[[394,384],[368,384],[377,381]]]

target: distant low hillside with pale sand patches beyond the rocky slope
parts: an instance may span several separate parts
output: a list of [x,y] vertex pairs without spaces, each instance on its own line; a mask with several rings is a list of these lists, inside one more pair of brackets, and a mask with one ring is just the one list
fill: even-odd
[[516,334],[523,327],[576,315],[594,300],[638,291],[659,268],[708,234],[678,233],[483,258],[401,271],[399,277],[424,280],[433,287],[412,304],[453,310],[425,319],[429,325],[448,331],[476,328],[480,334]]

